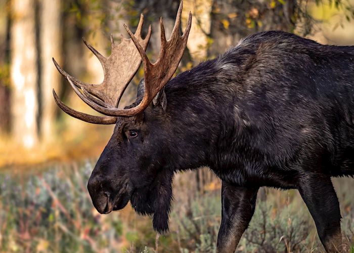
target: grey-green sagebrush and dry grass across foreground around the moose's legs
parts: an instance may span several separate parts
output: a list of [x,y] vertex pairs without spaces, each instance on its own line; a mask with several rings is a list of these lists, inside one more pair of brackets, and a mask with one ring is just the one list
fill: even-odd
[[[94,161],[0,174],[0,252],[215,252],[220,182],[210,172],[178,174],[170,233],[156,236],[130,206],[99,215],[86,190]],[[342,229],[352,253],[354,179],[335,179]],[[297,191],[260,192],[237,252],[324,252]],[[351,247],[351,248],[350,248]],[[350,249],[349,249],[350,248]],[[351,250],[351,251],[350,251]]]

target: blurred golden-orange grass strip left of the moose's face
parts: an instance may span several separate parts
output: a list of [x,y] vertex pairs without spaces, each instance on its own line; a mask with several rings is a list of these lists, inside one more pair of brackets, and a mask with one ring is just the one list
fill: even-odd
[[72,124],[70,128],[59,129],[52,140],[41,140],[32,149],[26,149],[9,136],[0,136],[0,168],[22,170],[48,162],[98,157],[113,133],[112,126],[87,124],[76,119],[68,121]]

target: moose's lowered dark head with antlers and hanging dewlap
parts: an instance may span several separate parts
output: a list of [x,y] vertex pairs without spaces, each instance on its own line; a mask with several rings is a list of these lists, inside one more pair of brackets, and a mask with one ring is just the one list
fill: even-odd
[[[191,29],[190,13],[187,28],[183,35],[180,35],[181,13],[182,2],[168,40],[165,38],[162,18],[160,19],[161,49],[154,64],[145,53],[151,27],[143,39],[143,15],[135,34],[124,24],[129,39],[122,36],[121,43],[116,45],[111,35],[112,50],[108,58],[84,40],[85,45],[102,64],[104,80],[101,85],[79,81],[61,69],[53,59],[55,66],[69,81],[75,93],[87,105],[105,116],[75,111],[66,106],[53,90],[58,106],[70,116],[86,122],[115,124],[114,133],[87,185],[94,206],[99,213],[108,214],[112,210],[123,208],[130,200],[138,213],[154,215],[154,229],[159,232],[168,230],[174,171],[183,166],[190,167],[193,163],[199,165],[197,159],[193,161],[190,157],[187,159],[186,155],[179,155],[187,154],[192,157],[196,146],[200,145],[200,140],[190,136],[185,130],[185,124],[173,123],[173,120],[182,114],[170,109],[168,103],[171,103],[171,108],[175,108],[177,106],[172,105],[183,100],[171,98],[171,101],[167,102],[168,96],[164,91],[166,83],[170,81],[181,61]],[[144,79],[139,84],[136,102],[124,109],[118,109],[122,94],[142,61]],[[183,150],[177,145],[179,141],[193,138],[194,142],[188,142]]]

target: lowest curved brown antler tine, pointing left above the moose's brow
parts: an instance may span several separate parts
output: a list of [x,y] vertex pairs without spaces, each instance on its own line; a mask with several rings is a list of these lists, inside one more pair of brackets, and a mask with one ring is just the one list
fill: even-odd
[[69,114],[70,116],[80,119],[85,122],[93,123],[93,124],[115,124],[117,122],[116,117],[110,116],[94,116],[90,114],[86,114],[83,112],[76,111],[71,109],[70,107],[66,106],[58,97],[53,89],[53,97],[57,105],[62,109],[64,112]]

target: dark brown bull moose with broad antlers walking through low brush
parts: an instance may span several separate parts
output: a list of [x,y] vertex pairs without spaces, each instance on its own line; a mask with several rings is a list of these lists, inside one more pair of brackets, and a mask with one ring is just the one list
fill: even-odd
[[[53,90],[58,106],[86,122],[115,124],[87,185],[98,212],[130,201],[166,232],[173,174],[208,166],[222,180],[218,252],[235,251],[262,186],[297,189],[326,251],[340,250],[331,177],[354,176],[354,47],[260,32],[172,78],[192,24],[190,13],[181,35],[181,13],[182,2],[168,40],[161,18],[154,64],[145,53],[151,27],[143,39],[143,15],[135,34],[124,24],[129,39],[116,45],[111,36],[108,58],[84,41],[103,66],[101,85],[79,81],[53,59],[76,94],[105,116],[75,111]],[[137,99],[118,109],[142,61]]]

